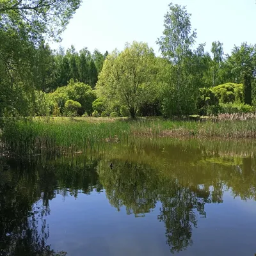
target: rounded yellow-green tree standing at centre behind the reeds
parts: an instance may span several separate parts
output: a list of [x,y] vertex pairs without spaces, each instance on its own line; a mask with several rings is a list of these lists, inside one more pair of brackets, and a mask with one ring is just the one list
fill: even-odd
[[145,101],[154,95],[156,57],[147,44],[126,44],[122,52],[113,51],[106,57],[97,83],[97,94],[111,104],[126,106],[132,118]]

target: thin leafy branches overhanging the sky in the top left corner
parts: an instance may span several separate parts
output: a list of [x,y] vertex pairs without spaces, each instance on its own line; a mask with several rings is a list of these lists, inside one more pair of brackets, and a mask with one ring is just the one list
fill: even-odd
[[22,29],[34,42],[44,35],[58,40],[80,4],[80,0],[4,1],[0,6],[0,13],[5,18],[1,20],[1,26],[3,29]]

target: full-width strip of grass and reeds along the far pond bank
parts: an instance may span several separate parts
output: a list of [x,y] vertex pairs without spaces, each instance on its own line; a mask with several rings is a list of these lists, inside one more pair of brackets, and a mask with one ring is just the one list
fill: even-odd
[[163,118],[34,118],[6,122],[1,143],[28,154],[74,153],[100,147],[102,141],[131,137],[256,138],[256,118],[220,116],[203,122]]

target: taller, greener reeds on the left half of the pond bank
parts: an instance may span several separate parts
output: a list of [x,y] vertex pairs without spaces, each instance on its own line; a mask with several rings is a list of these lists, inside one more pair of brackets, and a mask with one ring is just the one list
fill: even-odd
[[125,122],[19,120],[5,125],[1,140],[18,154],[68,154],[95,148],[102,140],[120,140],[128,129]]

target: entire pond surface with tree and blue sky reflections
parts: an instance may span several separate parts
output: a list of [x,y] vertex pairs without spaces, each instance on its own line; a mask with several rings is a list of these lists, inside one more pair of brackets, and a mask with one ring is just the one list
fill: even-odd
[[1,159],[0,255],[253,256],[255,148],[159,139]]

